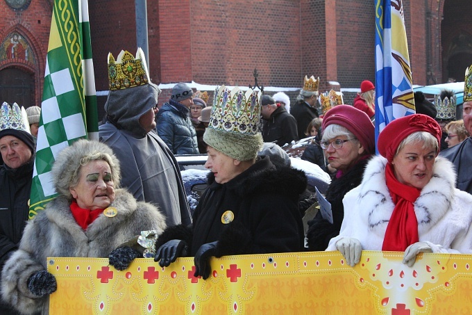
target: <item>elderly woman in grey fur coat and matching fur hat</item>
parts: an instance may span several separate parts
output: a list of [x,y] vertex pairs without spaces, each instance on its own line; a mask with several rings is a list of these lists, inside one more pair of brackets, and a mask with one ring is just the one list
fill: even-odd
[[[137,202],[119,185],[119,161],[103,143],[78,140],[58,154],[52,169],[58,197],[24,229],[19,250],[3,267],[1,295],[23,314],[48,314],[56,278],[47,257],[108,257],[122,269],[140,254],[119,248],[142,230],[165,229],[152,204]],[[119,248],[115,250],[116,248]]]

